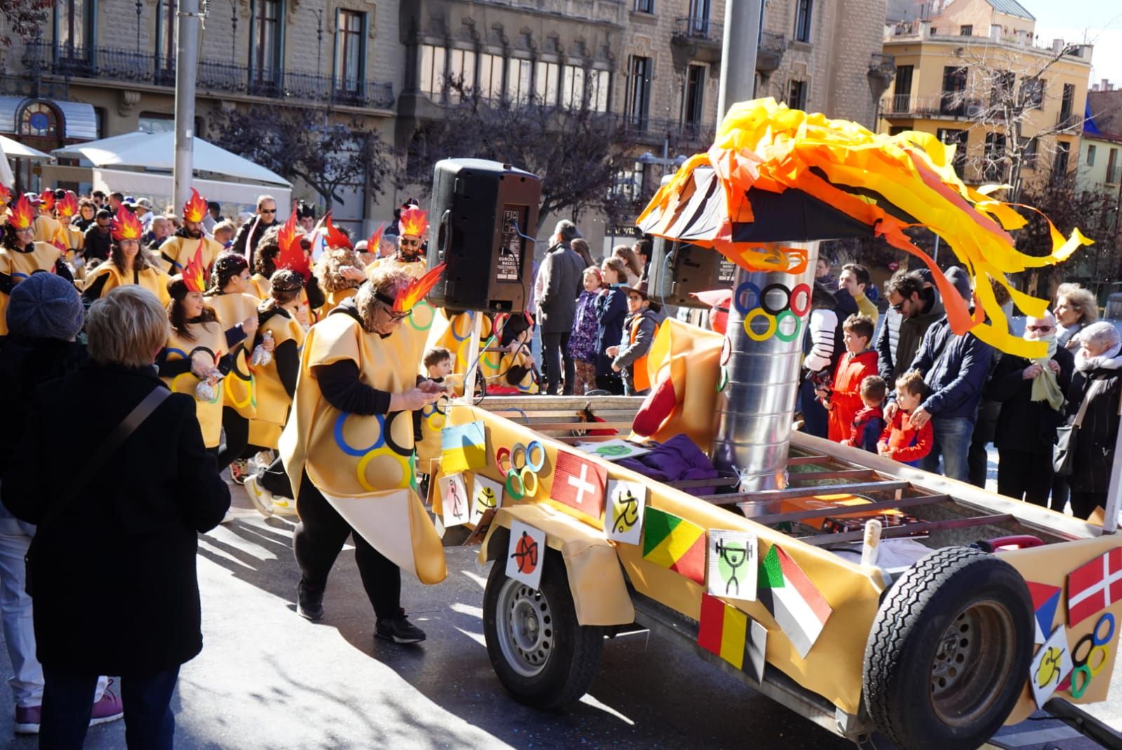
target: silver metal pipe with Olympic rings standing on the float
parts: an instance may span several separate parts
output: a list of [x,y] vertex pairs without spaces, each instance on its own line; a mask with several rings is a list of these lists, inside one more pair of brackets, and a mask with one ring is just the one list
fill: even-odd
[[785,484],[818,245],[775,245],[807,250],[807,268],[798,275],[737,268],[728,315],[727,399],[718,411],[714,464],[735,470],[742,492],[778,490]]

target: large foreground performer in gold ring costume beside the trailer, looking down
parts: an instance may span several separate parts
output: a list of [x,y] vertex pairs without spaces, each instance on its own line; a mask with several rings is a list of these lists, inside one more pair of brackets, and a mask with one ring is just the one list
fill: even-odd
[[280,436],[301,516],[293,537],[302,573],[297,612],[323,616],[328,574],[353,532],[376,635],[398,643],[424,640],[399,606],[401,569],[426,584],[447,575],[440,538],[415,492],[412,419],[445,391],[416,385],[413,342],[398,330],[442,271],[412,280],[380,268],[312,327]]

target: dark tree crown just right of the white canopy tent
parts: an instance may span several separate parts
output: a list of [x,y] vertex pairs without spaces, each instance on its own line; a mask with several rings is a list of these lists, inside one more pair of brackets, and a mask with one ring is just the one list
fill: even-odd
[[218,115],[213,125],[219,146],[300,179],[323,198],[325,210],[343,202],[339,191],[346,186],[381,194],[393,174],[389,148],[357,119],[325,125],[316,110],[255,104]]

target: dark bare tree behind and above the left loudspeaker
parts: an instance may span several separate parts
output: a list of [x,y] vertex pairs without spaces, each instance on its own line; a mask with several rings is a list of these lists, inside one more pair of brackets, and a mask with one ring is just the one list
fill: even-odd
[[[581,212],[614,205],[611,186],[623,162],[613,116],[580,107],[537,101],[488,100],[462,82],[450,81],[443,118],[420,128],[405,155],[398,188],[432,183],[443,158],[484,158],[533,172],[542,180],[539,228],[563,210]],[[587,97],[586,97],[587,99]]]

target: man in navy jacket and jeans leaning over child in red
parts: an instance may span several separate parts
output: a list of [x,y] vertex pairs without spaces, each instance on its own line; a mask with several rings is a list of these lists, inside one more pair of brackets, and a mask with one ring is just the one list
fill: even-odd
[[[971,280],[965,271],[951,266],[946,276],[964,300],[973,299]],[[901,312],[905,310],[907,305]],[[902,337],[901,327],[901,345]],[[922,428],[930,421],[935,432],[935,447],[920,460],[923,470],[937,474],[941,455],[945,476],[963,482],[968,479],[967,452],[992,357],[993,347],[973,333],[956,335],[950,330],[946,315],[927,329],[919,351],[908,367],[909,371],[923,373],[923,381],[930,388],[927,399],[911,414],[913,427]],[[885,419],[891,419],[894,408],[894,403],[890,404]]]

